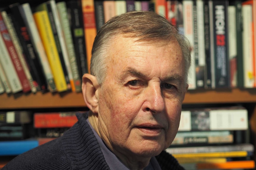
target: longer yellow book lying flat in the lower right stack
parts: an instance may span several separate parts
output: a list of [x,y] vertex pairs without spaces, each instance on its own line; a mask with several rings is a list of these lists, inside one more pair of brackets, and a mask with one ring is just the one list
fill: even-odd
[[231,151],[231,152],[207,152],[207,153],[178,153],[172,154],[175,158],[227,158],[227,157],[245,157],[246,151]]

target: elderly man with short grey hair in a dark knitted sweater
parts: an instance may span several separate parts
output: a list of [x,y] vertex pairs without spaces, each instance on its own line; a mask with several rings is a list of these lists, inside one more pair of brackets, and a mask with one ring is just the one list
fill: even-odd
[[164,17],[129,12],[99,30],[91,74],[83,75],[90,109],[56,140],[8,163],[11,169],[183,169],[166,153],[180,122],[190,47]]

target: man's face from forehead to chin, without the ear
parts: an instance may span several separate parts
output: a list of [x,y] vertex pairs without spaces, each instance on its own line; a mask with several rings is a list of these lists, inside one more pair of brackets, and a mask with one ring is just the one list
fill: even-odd
[[116,155],[152,157],[172,143],[186,92],[177,42],[118,35],[99,90],[98,127]]

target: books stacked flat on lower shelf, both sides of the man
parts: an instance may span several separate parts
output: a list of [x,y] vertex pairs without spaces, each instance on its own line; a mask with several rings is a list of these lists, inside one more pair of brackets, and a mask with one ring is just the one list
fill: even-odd
[[[2,111],[0,157],[19,155],[56,139],[76,122],[75,112]],[[236,161],[241,167],[245,161],[247,166],[241,168],[252,168],[254,146],[248,131],[248,112],[244,107],[183,109],[178,133],[166,151],[184,167],[232,167]]]

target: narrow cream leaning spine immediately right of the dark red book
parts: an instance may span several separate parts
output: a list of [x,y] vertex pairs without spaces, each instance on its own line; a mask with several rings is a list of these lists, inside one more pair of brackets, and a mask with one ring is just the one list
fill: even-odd
[[14,26],[12,24],[11,18],[8,17],[6,11],[2,11],[1,14],[2,14],[2,17],[3,17],[4,22],[6,24],[7,30],[8,30],[8,32],[10,34],[10,37],[12,39],[12,42],[13,42],[13,45],[14,45],[15,50],[17,52],[17,55],[18,55],[18,57],[20,59],[20,63],[22,65],[22,67],[24,69],[24,72],[26,74],[26,77],[27,77],[27,79],[29,81],[29,85],[30,85],[31,91],[33,93],[36,93],[37,92],[37,88],[34,85],[34,80],[33,80],[32,76],[30,74],[28,65],[26,63],[26,59],[25,59],[25,57],[23,55],[23,50],[22,50],[22,47],[20,45],[18,35],[17,35],[17,33],[16,33],[15,29],[14,29]]

